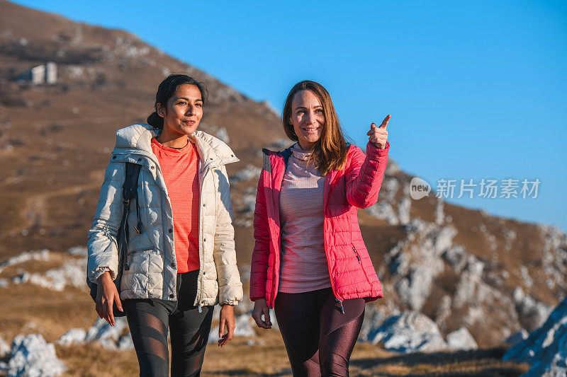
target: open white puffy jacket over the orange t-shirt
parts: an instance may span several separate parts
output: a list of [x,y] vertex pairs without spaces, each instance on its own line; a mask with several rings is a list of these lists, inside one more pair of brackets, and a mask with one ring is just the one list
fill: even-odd
[[[133,124],[116,132],[116,146],[106,168],[89,230],[87,276],[91,282],[105,271],[113,279],[118,269],[116,236],[123,214],[122,186],[125,162],[142,166],[138,178],[141,233],[135,231],[135,202],[128,217],[128,263],[123,271],[120,298],[176,297],[176,259],[172,205],[162,171],[152,152],[151,139],[159,130],[149,124]],[[236,265],[232,203],[225,164],[239,161],[223,141],[205,132],[189,135],[199,155],[199,277],[196,306],[235,305],[242,300],[242,283]]]

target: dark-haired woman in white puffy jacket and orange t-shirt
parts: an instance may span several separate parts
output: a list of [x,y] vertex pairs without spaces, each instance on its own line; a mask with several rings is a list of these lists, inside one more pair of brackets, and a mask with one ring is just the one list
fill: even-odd
[[[232,339],[233,306],[242,300],[225,169],[238,159],[223,141],[196,130],[205,103],[206,88],[190,76],[170,75],[159,84],[148,124],[116,132],[89,230],[87,275],[99,286],[96,311],[111,325],[113,304],[125,311],[140,376],[168,375],[168,327],[172,376],[198,376],[213,306],[222,306],[222,347]],[[141,168],[118,292],[126,163]]]

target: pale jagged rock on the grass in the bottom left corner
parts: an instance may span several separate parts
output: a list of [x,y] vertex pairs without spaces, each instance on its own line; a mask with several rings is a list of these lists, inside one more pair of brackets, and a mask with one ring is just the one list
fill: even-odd
[[41,335],[18,335],[13,340],[7,376],[59,376],[65,369],[57,359],[55,346],[47,344]]

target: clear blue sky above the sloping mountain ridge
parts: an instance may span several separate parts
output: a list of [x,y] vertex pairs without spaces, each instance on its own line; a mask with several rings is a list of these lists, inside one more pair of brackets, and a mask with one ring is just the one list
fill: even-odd
[[361,146],[391,114],[390,156],[434,189],[541,181],[537,199],[448,202],[567,230],[565,1],[16,2],[128,30],[276,109],[319,81]]

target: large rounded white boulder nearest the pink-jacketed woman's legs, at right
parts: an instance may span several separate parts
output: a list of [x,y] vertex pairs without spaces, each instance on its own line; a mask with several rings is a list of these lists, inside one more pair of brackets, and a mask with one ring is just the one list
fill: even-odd
[[435,352],[447,349],[439,327],[426,315],[405,311],[386,319],[376,330],[369,332],[373,344],[396,352]]

